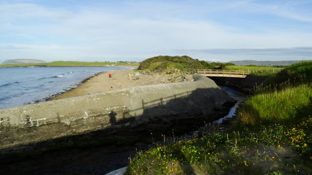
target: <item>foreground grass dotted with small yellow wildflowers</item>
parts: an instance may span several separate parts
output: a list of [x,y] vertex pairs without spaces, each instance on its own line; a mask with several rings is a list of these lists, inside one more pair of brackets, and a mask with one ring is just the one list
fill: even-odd
[[311,127],[309,117],[292,126],[244,128],[159,145],[131,159],[126,175],[308,174]]

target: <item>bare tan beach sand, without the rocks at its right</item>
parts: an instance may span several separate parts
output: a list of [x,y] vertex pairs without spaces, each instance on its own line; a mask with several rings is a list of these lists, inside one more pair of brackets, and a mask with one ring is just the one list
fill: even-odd
[[[112,77],[109,78],[109,74],[112,74]],[[131,79],[129,79],[129,74],[131,74]],[[160,82],[155,81],[153,75],[139,74],[139,78],[136,79],[136,72],[131,70],[113,70],[105,71],[97,76],[91,77],[90,79],[84,81],[77,88],[73,88],[69,91],[66,91],[50,100],[58,100],[69,97],[76,97],[81,95],[107,92],[113,87],[115,89],[121,88],[130,88],[143,85],[153,85]]]

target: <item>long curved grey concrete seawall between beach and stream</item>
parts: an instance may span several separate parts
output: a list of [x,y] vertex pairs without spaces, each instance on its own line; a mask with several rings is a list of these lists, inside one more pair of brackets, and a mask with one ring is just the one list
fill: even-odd
[[204,116],[209,122],[215,113],[234,105],[211,79],[195,75],[194,80],[1,109],[0,153],[20,153],[29,149],[27,145],[46,140],[94,131],[113,133],[159,120],[193,121],[194,116]]

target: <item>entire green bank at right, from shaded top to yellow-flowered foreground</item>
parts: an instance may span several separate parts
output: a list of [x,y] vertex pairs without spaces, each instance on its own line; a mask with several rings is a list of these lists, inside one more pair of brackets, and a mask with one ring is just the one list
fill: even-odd
[[[311,175],[312,62],[272,74],[228,130],[164,142],[130,160],[126,175]],[[209,126],[209,125],[208,125]]]

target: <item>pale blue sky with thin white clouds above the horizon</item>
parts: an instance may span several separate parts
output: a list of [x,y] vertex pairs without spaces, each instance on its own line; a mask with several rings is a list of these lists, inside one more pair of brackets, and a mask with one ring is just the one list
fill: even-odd
[[312,60],[312,0],[0,0],[7,59]]

